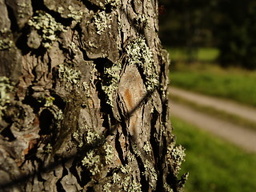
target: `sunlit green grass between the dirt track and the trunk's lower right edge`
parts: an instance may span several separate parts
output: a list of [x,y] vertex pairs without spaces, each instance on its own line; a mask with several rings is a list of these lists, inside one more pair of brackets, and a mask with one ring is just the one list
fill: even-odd
[[182,172],[186,192],[251,192],[256,189],[256,155],[172,117],[177,142],[186,148]]

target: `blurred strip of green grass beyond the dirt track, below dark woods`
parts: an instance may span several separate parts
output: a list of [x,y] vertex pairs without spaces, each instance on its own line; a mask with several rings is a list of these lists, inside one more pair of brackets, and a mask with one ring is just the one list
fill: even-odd
[[[181,50],[175,51],[182,53]],[[202,49],[198,62],[171,63],[170,85],[256,106],[256,71],[235,68],[224,70],[213,63],[216,51]],[[202,62],[206,57],[209,57],[209,62]]]

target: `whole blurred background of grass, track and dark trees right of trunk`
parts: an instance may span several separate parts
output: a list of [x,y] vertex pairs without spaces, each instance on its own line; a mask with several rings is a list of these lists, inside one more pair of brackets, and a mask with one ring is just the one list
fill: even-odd
[[[186,106],[256,135],[256,1],[159,0],[159,26],[175,89],[171,122],[177,142],[186,147],[186,192],[256,191],[256,140],[250,141],[254,150],[246,149],[172,110]],[[218,101],[205,106],[190,93],[226,101],[224,108],[235,103],[234,111],[248,107],[255,118],[217,108]]]

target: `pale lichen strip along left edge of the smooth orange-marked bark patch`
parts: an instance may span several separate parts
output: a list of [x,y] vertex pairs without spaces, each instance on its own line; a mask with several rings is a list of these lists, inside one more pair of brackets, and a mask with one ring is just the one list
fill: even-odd
[[106,103],[113,106],[113,94],[118,89],[120,80],[121,64],[114,63],[111,67],[104,68],[104,76],[102,82],[102,90],[106,94]]

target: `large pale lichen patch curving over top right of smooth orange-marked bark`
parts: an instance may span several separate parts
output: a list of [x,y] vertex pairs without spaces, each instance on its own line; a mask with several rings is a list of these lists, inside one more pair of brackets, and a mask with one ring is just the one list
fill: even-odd
[[126,46],[128,62],[142,69],[146,79],[146,89],[154,90],[158,86],[158,74],[154,66],[153,54],[144,38],[136,38]]

